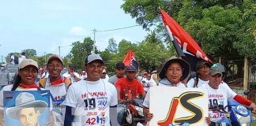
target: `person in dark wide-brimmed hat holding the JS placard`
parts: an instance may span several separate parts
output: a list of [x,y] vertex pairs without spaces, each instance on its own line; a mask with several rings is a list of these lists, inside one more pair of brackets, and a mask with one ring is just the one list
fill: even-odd
[[[159,86],[186,87],[186,85],[182,83],[182,80],[185,80],[187,76],[189,76],[189,73],[190,64],[183,59],[173,56],[164,63],[164,66],[160,70]],[[150,90],[143,102],[143,113],[147,121],[151,120],[153,117],[153,114],[149,113],[149,94]]]

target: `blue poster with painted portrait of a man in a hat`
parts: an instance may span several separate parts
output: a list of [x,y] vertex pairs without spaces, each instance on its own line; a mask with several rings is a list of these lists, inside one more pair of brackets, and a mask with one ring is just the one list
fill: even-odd
[[49,91],[4,91],[5,124],[47,125],[50,117]]

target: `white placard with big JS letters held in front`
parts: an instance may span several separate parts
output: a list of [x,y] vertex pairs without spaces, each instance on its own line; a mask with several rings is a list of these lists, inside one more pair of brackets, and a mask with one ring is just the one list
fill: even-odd
[[208,94],[201,88],[150,87],[149,111],[154,117],[150,126],[179,125],[206,126]]

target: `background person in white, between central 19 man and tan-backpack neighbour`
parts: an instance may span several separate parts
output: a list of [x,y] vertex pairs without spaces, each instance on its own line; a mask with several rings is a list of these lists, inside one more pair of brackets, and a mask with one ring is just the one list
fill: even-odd
[[77,81],[80,80],[80,76],[77,72],[74,72],[74,70],[75,70],[75,66],[70,65],[68,72],[64,73],[62,76],[66,77],[66,78],[70,78],[72,83],[76,83]]

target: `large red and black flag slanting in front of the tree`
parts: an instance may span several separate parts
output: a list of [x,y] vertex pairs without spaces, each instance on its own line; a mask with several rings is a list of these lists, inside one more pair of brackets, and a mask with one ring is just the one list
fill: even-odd
[[162,9],[160,13],[178,56],[183,58],[186,56],[186,61],[190,63],[192,71],[195,71],[195,65],[200,58],[212,62],[198,43],[168,13]]

